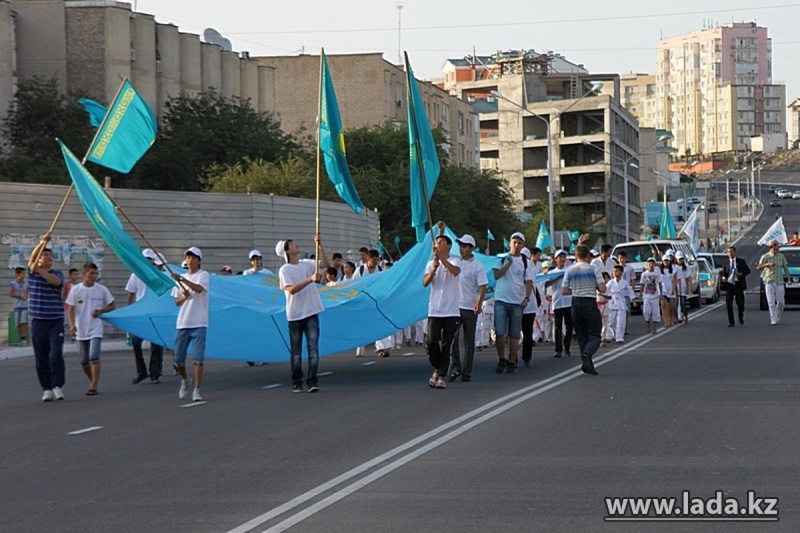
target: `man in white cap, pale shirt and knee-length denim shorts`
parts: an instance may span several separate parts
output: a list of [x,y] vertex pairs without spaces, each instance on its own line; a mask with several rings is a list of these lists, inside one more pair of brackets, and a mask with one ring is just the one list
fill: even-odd
[[[494,267],[497,280],[494,296],[495,346],[499,361],[495,372],[512,374],[517,369],[519,338],[522,332],[522,310],[528,306],[533,296],[533,269],[528,268],[528,259],[522,255],[525,235],[516,232],[511,235],[508,256]],[[506,338],[509,343],[509,357],[506,361]]]

